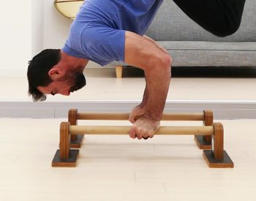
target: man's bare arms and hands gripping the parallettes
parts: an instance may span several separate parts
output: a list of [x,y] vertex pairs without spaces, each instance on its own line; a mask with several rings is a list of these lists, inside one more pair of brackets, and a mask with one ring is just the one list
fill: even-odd
[[[143,102],[129,116],[129,121],[134,123],[129,136],[139,140],[153,137],[165,107],[172,59],[152,39],[126,31],[125,62],[143,69],[146,77]],[[136,116],[140,118],[136,120]]]

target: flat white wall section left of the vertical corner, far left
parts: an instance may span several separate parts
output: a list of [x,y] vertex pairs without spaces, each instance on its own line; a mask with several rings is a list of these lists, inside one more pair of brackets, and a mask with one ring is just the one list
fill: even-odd
[[0,76],[24,72],[31,58],[31,1],[4,1],[1,7]]

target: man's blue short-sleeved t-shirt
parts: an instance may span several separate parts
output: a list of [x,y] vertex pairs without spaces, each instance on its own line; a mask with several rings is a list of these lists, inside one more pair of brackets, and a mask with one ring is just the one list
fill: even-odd
[[100,65],[124,61],[124,30],[143,35],[163,0],[86,0],[64,52]]

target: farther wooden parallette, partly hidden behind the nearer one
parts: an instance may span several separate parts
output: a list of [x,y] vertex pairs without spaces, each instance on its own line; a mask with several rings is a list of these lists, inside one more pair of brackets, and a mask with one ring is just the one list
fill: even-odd
[[[78,113],[77,109],[69,110],[69,122],[77,125],[78,120],[120,120],[128,121],[129,113]],[[162,121],[203,121],[203,125],[211,126],[213,113],[211,110],[204,110],[203,113],[164,113]],[[200,149],[211,149],[211,137],[195,135],[195,141]],[[71,135],[71,148],[80,148],[83,142],[83,135],[73,133]]]

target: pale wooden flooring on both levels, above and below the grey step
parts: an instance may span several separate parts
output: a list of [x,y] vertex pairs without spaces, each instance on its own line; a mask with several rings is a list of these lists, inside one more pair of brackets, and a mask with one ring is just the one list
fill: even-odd
[[[117,80],[108,69],[88,70],[86,78],[83,90],[48,101],[140,100],[145,86],[143,77]],[[255,76],[174,77],[168,100],[255,101],[255,86]],[[0,100],[30,100],[26,77],[0,77],[0,89]],[[53,168],[61,121],[67,119],[0,119],[1,201],[256,200],[256,118],[222,121],[234,169],[208,168],[192,136],[132,140],[113,135],[86,137],[78,167]],[[199,123],[186,123],[194,124]]]

